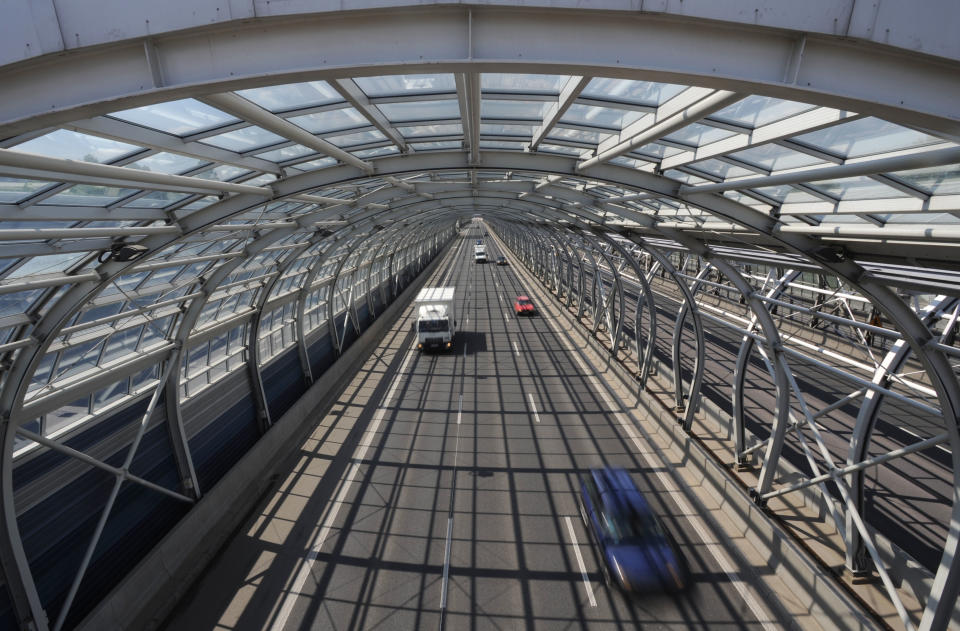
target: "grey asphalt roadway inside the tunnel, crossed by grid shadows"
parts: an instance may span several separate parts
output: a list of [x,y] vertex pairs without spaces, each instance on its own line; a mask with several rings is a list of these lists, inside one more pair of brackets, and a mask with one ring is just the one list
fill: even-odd
[[166,628],[763,628],[754,610],[774,626],[687,517],[666,522],[693,589],[601,583],[578,474],[624,466],[663,515],[669,479],[550,320],[512,315],[523,283],[474,264],[473,238],[431,282],[457,285],[454,351],[412,351],[401,322]]

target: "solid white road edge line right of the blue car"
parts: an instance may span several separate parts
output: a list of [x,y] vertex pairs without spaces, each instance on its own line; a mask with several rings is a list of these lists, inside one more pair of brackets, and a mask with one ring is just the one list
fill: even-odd
[[[606,384],[598,379],[596,375],[592,374],[592,371],[587,367],[586,362],[584,362],[583,358],[580,357],[580,353],[570,346],[570,341],[562,333],[558,334],[557,337],[563,341],[564,346],[567,347],[567,351],[580,365],[580,370],[583,371],[583,374],[588,375],[588,379],[593,384],[596,391],[600,394],[600,397],[603,399],[607,407],[611,411],[621,408],[622,406],[614,405],[613,399],[610,397]],[[744,582],[742,578],[740,578],[736,567],[727,556],[727,553],[723,547],[719,543],[711,540],[710,535],[707,534],[708,529],[703,519],[693,511],[693,508],[690,506],[689,502],[687,502],[683,492],[677,488],[673,480],[663,472],[665,463],[660,461],[659,455],[657,455],[655,458],[652,449],[644,446],[640,442],[640,438],[637,436],[637,432],[634,429],[633,423],[630,421],[630,419],[626,418],[626,415],[624,415],[622,412],[614,412],[614,416],[626,434],[630,437],[630,440],[637,448],[637,452],[643,456],[643,459],[647,462],[647,465],[652,470],[656,471],[657,478],[660,480],[660,484],[663,486],[664,491],[667,492],[667,494],[677,505],[680,515],[686,517],[690,525],[693,526],[697,536],[700,537],[700,540],[710,552],[710,555],[720,566],[720,569],[722,569],[724,574],[726,574],[730,579],[730,583],[734,586],[734,588],[736,588],[737,592],[740,594],[740,597],[743,599],[743,602],[746,603],[746,605],[750,608],[750,611],[753,612],[753,615],[756,617],[756,619],[761,625],[763,625],[763,628],[767,629],[768,631],[774,631],[775,629],[778,629],[779,625],[777,625],[776,619],[768,614],[757,601],[757,598],[753,593],[753,588]],[[643,429],[641,428],[640,431],[643,431]]]

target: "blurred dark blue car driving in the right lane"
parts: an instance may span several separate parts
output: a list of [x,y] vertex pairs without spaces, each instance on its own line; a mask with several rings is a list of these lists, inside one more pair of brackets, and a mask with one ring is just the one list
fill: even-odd
[[673,537],[623,469],[580,478],[580,516],[600,548],[604,580],[626,592],[678,592],[690,571]]

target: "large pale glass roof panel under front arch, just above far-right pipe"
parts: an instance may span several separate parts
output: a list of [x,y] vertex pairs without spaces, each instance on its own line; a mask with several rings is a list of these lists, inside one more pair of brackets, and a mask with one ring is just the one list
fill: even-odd
[[936,136],[873,117],[841,123],[793,139],[841,158],[859,158],[943,142]]

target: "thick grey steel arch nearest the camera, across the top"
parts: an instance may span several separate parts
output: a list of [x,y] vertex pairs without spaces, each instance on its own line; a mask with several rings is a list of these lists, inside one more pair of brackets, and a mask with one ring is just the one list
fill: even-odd
[[[199,14],[193,15],[199,22]],[[381,38],[387,15],[390,37]],[[851,108],[950,134],[960,131],[955,109],[960,88],[940,80],[949,74],[945,66],[955,66],[955,61],[868,43],[849,46],[844,37],[807,37],[806,21],[797,27],[778,31],[651,14],[528,13],[493,6],[435,7],[429,19],[420,11],[291,11],[284,19],[245,16],[242,28],[181,23],[176,32],[151,28],[143,37],[63,52],[57,64],[40,58],[5,67],[9,71],[0,74],[0,82],[9,87],[10,98],[0,110],[0,136],[104,113],[97,104],[111,102],[124,109],[196,96],[205,86],[233,90],[262,85],[264,77],[307,81],[411,72],[417,66],[426,72],[469,72],[494,64],[511,72],[555,74],[563,68],[561,74],[599,72],[732,87]],[[35,28],[26,26],[29,32]],[[596,35],[583,38],[585,29]],[[677,56],[677,49],[701,54]],[[249,50],[258,56],[243,54]],[[80,82],[83,90],[64,93],[64,86],[78,85],[77,77],[91,72],[97,81]],[[900,87],[896,91],[886,79],[892,74]],[[49,87],[40,91],[38,84]],[[903,94],[912,95],[912,108]]]

